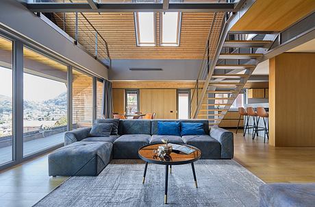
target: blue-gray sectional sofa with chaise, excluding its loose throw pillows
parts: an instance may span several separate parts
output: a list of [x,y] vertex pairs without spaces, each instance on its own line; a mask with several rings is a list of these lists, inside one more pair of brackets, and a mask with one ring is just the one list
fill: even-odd
[[[203,123],[205,135],[157,135],[158,121]],[[96,123],[108,123],[97,119]],[[231,159],[234,156],[233,133],[211,127],[207,120],[153,119],[119,120],[118,134],[108,137],[90,137],[91,127],[83,127],[64,136],[65,147],[49,155],[49,175],[98,175],[114,159],[138,159],[138,149],[151,143],[186,143],[201,149],[201,159]]]

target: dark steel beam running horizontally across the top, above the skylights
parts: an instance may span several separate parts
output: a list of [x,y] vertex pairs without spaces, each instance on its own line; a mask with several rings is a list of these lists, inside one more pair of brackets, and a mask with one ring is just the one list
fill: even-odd
[[26,3],[31,12],[236,12],[234,3]]

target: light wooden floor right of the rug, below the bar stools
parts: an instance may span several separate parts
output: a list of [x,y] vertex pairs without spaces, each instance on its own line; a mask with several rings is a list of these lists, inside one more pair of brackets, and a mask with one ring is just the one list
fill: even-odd
[[240,131],[234,143],[234,159],[264,182],[315,182],[315,147],[273,147]]

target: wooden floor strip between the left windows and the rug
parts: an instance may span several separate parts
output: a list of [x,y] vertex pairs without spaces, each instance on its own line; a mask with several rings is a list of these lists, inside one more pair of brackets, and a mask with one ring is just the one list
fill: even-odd
[[48,176],[47,155],[0,172],[0,206],[33,206],[68,177]]

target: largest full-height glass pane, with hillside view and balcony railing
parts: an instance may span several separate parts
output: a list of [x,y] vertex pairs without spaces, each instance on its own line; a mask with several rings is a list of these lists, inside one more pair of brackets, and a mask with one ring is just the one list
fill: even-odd
[[23,155],[64,142],[67,66],[23,49]]

